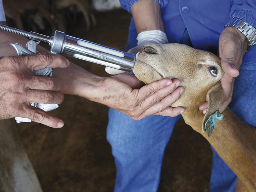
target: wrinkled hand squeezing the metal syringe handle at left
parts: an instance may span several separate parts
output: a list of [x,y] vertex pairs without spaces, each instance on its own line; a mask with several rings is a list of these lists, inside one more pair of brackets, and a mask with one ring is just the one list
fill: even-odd
[[64,95],[58,80],[36,76],[34,70],[46,67],[64,68],[69,61],[61,55],[35,54],[26,57],[4,57],[0,59],[0,119],[25,117],[49,127],[63,127],[57,117],[49,116],[30,103],[61,103]]

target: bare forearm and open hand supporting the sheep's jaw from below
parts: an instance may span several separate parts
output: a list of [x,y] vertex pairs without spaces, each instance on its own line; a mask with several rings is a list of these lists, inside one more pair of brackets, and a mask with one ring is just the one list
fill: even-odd
[[[66,73],[66,70],[69,73]],[[130,74],[100,77],[73,64],[68,69],[58,68],[54,74],[61,80],[64,94],[102,103],[134,120],[151,114],[177,116],[184,111],[183,107],[170,107],[184,91],[177,79],[162,79],[144,85]]]

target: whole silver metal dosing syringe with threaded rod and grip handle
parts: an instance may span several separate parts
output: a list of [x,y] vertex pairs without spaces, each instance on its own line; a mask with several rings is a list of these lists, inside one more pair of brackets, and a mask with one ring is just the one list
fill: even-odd
[[[114,69],[123,71],[132,71],[134,65],[134,55],[122,52],[113,48],[101,46],[89,41],[78,39],[65,35],[60,31],[55,31],[54,36],[49,37],[34,32],[26,32],[9,26],[1,25],[0,30],[15,33],[31,39],[27,43],[27,48],[17,43],[11,43],[15,48],[17,55],[31,55],[36,53],[36,45],[40,42],[49,43],[52,54],[66,54],[78,59],[86,60],[92,63],[101,64]],[[45,68],[33,72],[35,75],[52,76],[52,68]],[[52,111],[58,107],[57,104],[31,103],[32,107],[38,108],[44,112]],[[15,117],[17,123],[31,122],[28,118]]]

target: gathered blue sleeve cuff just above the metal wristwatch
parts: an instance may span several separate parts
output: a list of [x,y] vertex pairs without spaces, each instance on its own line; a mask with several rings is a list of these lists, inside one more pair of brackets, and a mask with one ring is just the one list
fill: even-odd
[[232,0],[230,17],[238,17],[256,27],[256,1]]

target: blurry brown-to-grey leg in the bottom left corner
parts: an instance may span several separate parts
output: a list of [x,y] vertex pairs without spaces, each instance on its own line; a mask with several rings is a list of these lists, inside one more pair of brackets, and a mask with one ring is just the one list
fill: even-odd
[[0,120],[0,133],[0,191],[42,192],[14,120]]

